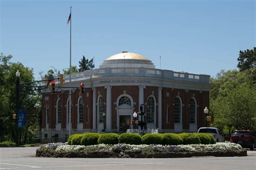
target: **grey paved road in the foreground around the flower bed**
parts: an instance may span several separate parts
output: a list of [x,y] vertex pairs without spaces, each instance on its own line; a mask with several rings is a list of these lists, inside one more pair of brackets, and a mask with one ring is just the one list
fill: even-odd
[[256,169],[256,151],[247,157],[36,158],[38,147],[1,147],[0,169]]

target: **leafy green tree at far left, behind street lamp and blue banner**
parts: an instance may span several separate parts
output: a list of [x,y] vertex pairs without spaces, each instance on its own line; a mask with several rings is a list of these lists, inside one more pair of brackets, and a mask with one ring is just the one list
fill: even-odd
[[[12,114],[16,113],[16,75],[17,70],[21,73],[21,82],[33,81],[33,69],[24,67],[21,62],[10,62],[12,56],[0,56],[0,140],[13,140],[15,138],[15,120]],[[31,125],[38,130],[38,115],[40,114],[40,97],[33,95],[31,88],[21,87],[19,109],[27,111],[27,124],[19,129],[19,138],[26,141]],[[23,94],[24,93],[24,94]],[[26,93],[30,93],[29,95]]]

